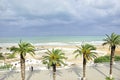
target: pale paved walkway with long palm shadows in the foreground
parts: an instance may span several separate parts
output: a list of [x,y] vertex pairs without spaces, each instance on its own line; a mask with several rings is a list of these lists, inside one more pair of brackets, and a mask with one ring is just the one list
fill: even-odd
[[[105,80],[109,74],[109,63],[98,64],[97,66],[87,66],[87,80]],[[115,80],[120,80],[120,62],[116,62],[113,67]],[[68,69],[57,70],[56,80],[80,80],[82,77],[82,67],[72,66]],[[0,80],[21,80],[20,72],[11,72],[6,79]],[[52,80],[52,72],[49,70],[34,70],[26,72],[26,80]]]

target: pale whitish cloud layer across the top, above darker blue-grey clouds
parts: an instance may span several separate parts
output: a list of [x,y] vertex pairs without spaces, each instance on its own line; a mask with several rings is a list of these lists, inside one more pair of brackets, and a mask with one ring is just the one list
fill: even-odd
[[[107,3],[107,4],[106,4]],[[120,13],[119,0],[2,0],[3,17],[96,19]],[[88,14],[89,13],[89,14]],[[67,16],[68,15],[68,16]],[[51,17],[50,17],[51,18]]]

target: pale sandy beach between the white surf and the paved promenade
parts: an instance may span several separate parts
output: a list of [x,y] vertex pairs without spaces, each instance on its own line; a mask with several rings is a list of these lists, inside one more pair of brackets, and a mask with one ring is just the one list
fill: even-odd
[[[65,56],[67,57],[66,62],[71,64],[82,64],[82,56],[75,58],[75,54],[73,54],[73,52],[77,49],[76,46],[79,46],[79,45],[36,45],[36,44],[33,44],[33,45],[35,46],[35,49],[36,49],[35,55],[34,57],[32,57],[27,54],[26,59],[41,60],[41,57],[45,55],[45,52],[47,51],[47,49],[51,50],[54,48],[54,49],[61,49],[65,53]],[[17,44],[5,44],[2,46],[2,49],[0,50],[0,52],[11,53],[9,50],[6,49],[11,46],[17,46]],[[94,45],[94,46],[97,48],[96,51],[98,53],[98,57],[110,54],[109,46],[102,46],[102,44]],[[120,55],[120,47],[116,48],[116,55]],[[6,59],[6,63],[11,63],[15,61],[19,61],[19,55],[17,55],[15,59]],[[0,62],[3,62],[3,61],[0,61]]]

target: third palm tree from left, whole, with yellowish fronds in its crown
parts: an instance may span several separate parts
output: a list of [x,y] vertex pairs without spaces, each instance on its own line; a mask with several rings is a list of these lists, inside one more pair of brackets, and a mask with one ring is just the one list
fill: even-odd
[[81,45],[81,47],[77,46],[77,50],[74,51],[74,53],[76,53],[75,58],[77,58],[78,56],[83,55],[83,77],[81,80],[85,80],[86,79],[86,63],[89,60],[93,60],[94,58],[97,57],[96,52],[94,52],[93,50],[96,50],[96,48],[93,45],[90,44],[84,44]]

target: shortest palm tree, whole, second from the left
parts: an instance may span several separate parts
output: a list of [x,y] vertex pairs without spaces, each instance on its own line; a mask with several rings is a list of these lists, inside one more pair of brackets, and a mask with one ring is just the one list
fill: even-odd
[[65,55],[60,49],[52,49],[52,51],[47,50],[46,55],[43,56],[43,64],[47,64],[48,68],[53,68],[53,80],[56,79],[56,66],[62,64],[65,65],[63,62],[65,59]]

